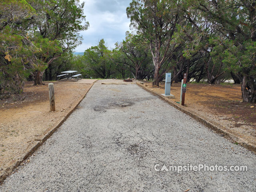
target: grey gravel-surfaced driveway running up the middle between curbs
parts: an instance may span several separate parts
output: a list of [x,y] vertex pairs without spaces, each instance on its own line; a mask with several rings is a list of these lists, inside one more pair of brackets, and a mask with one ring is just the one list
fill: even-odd
[[[168,171],[188,164],[248,171]],[[255,165],[255,154],[137,85],[94,84],[0,191],[253,192]]]

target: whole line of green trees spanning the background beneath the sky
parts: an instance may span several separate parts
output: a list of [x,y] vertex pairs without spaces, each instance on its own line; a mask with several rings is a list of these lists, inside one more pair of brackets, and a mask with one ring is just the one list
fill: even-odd
[[[102,39],[83,56],[70,51],[80,42],[78,32],[88,27],[82,22],[83,4],[14,2],[15,22],[7,6],[1,7],[6,10],[0,14],[5,39],[0,45],[1,87],[10,78],[20,84],[24,77],[35,84],[42,78],[55,80],[60,71],[71,68],[86,78],[134,77],[152,80],[153,86],[159,86],[166,72],[172,72],[172,82],[186,72],[188,79],[209,84],[232,78],[241,84],[244,102],[256,102],[255,0],[132,0],[126,12],[133,32],[126,32],[114,49]],[[23,10],[18,9],[20,3],[26,4]],[[66,9],[68,4],[75,10]]]

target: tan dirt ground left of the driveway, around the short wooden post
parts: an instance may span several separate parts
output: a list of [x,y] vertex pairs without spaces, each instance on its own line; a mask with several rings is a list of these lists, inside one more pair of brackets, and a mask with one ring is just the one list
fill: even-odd
[[27,82],[24,100],[0,100],[0,168],[12,164],[56,127],[92,84],[55,83],[56,111],[50,112],[48,83]]

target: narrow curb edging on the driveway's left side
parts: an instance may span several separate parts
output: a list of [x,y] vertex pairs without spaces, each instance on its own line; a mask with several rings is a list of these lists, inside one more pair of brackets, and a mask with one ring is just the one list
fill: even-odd
[[[98,81],[98,80],[97,80]],[[95,81],[95,82],[97,82]],[[94,82],[94,83],[95,83]],[[56,127],[54,127],[52,130],[50,130],[48,133],[44,135],[42,139],[40,139],[26,154],[22,154],[20,158],[18,158],[15,162],[12,164],[6,164],[0,169],[0,184],[8,177],[10,176],[13,171],[29,156],[31,156],[52,134],[65,122],[65,120],[76,110],[77,106],[80,104],[80,102],[85,98],[86,94],[89,92],[89,90],[92,88],[94,83],[91,84],[90,88],[87,90],[87,92],[84,94],[84,96],[81,98],[80,101],[77,102],[76,105],[70,110],[70,112],[62,118],[62,120],[58,123]]]

